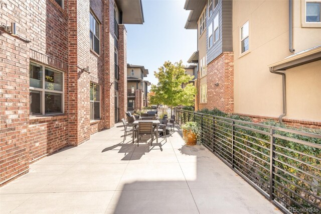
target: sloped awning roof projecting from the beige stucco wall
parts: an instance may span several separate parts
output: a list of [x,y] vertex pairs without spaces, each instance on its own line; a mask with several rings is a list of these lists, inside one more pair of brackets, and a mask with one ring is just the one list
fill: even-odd
[[269,65],[269,67],[274,71],[284,71],[318,60],[321,60],[321,45],[295,53],[279,62]]

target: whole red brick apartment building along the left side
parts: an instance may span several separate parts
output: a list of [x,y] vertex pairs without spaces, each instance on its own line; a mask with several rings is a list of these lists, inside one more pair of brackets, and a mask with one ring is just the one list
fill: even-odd
[[124,117],[124,24],[144,20],[140,0],[7,1],[0,12],[2,185]]

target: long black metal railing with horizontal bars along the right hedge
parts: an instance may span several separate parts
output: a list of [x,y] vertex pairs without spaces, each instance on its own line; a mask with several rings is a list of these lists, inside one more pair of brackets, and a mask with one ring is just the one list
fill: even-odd
[[[284,212],[321,211],[321,135],[175,110],[197,122],[201,142]],[[313,132],[313,131],[311,131]]]

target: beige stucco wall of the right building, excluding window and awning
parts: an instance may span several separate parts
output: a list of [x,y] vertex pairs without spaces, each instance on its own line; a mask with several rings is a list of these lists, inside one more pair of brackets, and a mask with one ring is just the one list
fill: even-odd
[[[240,55],[240,27],[246,21],[249,21],[249,51]],[[310,30],[305,28],[296,31],[300,32],[300,36],[295,34],[294,37],[301,39],[295,42],[295,49],[299,51],[317,43],[320,45],[321,40],[316,41],[318,37],[309,41]],[[316,30],[321,35],[321,29]],[[270,73],[268,65],[292,54],[288,50],[288,42],[288,1],[233,1],[235,113],[271,117],[281,115],[282,78]],[[320,105],[316,105],[320,104],[316,97],[319,96],[321,79],[315,68],[309,70],[312,67],[300,66],[297,72],[286,71],[288,114],[285,118],[321,120]],[[310,81],[309,86],[295,84],[300,79],[302,82],[315,80]],[[301,90],[299,99],[298,90]],[[304,97],[302,94],[310,95]],[[304,104],[293,106],[299,102]],[[309,113],[304,113],[306,106],[309,106],[306,109]]]

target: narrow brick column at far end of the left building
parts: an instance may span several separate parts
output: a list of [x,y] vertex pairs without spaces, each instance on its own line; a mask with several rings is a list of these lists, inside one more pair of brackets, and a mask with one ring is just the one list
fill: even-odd
[[118,64],[119,64],[119,119],[125,118],[127,111],[127,32],[124,25],[119,25]]

